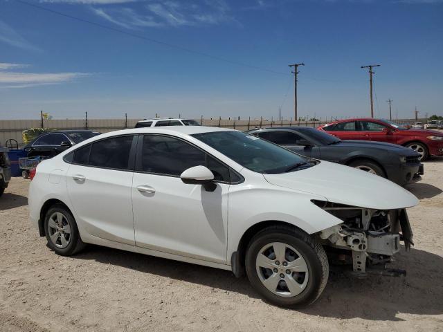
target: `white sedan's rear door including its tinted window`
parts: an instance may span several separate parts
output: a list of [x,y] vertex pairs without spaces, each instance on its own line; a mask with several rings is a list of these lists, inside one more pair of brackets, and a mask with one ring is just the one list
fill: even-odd
[[69,199],[80,223],[94,237],[135,245],[132,177],[136,137],[98,140],[65,157]]

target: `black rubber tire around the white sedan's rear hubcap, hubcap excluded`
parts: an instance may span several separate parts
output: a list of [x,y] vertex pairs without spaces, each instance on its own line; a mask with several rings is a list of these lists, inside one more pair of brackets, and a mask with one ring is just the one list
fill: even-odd
[[[69,235],[68,245],[65,248],[59,248],[53,240],[51,240],[51,232],[49,227],[49,219],[55,213],[61,213],[64,216],[63,222],[69,224],[71,233]],[[44,219],[44,232],[46,234],[46,240],[48,241],[48,247],[55,251],[58,255],[70,256],[80,252],[86,245],[80,239],[80,233],[78,232],[77,223],[68,208],[63,204],[55,204],[46,212]],[[66,235],[67,237],[67,235]],[[65,237],[65,239],[66,239]]]

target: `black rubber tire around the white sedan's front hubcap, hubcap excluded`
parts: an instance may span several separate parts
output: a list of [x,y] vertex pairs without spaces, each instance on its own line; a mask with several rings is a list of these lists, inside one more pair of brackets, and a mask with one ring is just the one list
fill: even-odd
[[[264,286],[257,273],[257,255],[264,246],[273,242],[284,243],[296,249],[306,262],[309,278],[303,291],[296,296],[283,297],[272,293]],[[271,226],[255,234],[246,251],[245,265],[253,288],[272,304],[287,308],[307,306],[316,301],[323,292],[329,276],[329,263],[323,247],[302,230],[282,225]]]

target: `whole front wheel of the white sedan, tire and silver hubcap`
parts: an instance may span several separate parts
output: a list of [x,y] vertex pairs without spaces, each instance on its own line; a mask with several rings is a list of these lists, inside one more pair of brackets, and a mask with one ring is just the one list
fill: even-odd
[[246,252],[246,273],[255,290],[284,307],[313,303],[329,274],[325,250],[308,234],[284,226],[257,233]]

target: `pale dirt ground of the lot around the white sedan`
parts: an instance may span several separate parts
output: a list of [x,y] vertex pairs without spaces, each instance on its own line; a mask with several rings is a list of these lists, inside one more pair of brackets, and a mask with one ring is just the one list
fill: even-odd
[[408,189],[415,247],[406,277],[332,270],[318,302],[266,304],[246,278],[215,268],[89,246],[60,257],[28,223],[28,180],[0,199],[0,331],[443,331],[443,158]]

